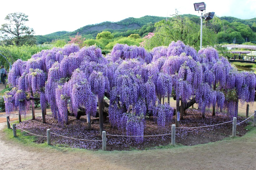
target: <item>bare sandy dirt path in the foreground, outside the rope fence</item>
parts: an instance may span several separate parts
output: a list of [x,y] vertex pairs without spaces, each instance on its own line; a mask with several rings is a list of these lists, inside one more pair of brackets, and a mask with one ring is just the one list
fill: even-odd
[[255,133],[207,145],[103,153],[20,145],[5,138],[5,126],[0,169],[256,169]]

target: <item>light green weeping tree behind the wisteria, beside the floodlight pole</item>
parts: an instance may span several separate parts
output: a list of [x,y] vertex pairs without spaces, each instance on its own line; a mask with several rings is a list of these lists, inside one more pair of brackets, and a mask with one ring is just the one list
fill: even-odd
[[[157,46],[168,46],[172,41],[181,40],[184,44],[199,49],[200,25],[190,21],[188,17],[181,17],[177,13],[170,20],[155,23],[154,36],[145,41],[145,48],[152,49]],[[217,43],[217,34],[203,26],[203,46]]]

